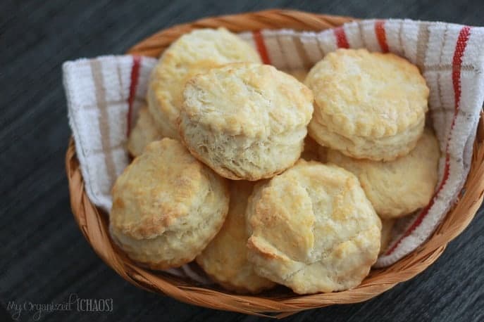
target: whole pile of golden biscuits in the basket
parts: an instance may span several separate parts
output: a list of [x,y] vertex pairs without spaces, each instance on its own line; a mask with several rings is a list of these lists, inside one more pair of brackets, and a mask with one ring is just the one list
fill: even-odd
[[407,60],[364,49],[294,74],[225,29],[162,54],[112,191],[110,233],[128,257],[196,261],[233,292],[363,281],[395,219],[432,198],[428,87]]

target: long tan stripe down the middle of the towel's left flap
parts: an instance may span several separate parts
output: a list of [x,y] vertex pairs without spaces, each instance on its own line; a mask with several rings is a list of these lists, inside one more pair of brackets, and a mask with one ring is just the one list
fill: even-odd
[[94,79],[94,89],[96,90],[96,103],[99,107],[99,133],[101,134],[101,146],[104,150],[104,163],[108,171],[109,182],[116,179],[116,167],[113,160],[113,150],[111,150],[111,129],[109,128],[108,104],[106,102],[106,91],[104,89],[103,75],[101,72],[101,62],[97,59],[91,62],[92,77]]

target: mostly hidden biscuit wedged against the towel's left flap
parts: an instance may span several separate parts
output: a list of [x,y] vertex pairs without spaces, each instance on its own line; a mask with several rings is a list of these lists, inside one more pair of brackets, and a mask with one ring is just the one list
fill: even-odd
[[128,151],[133,157],[137,157],[143,153],[144,147],[148,143],[159,139],[161,139],[161,134],[158,127],[156,127],[148,108],[144,105],[139,110],[135,127],[132,128],[130,136],[128,136]]

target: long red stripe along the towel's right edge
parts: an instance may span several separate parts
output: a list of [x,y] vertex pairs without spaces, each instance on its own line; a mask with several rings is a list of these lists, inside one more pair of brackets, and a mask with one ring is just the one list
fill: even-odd
[[[462,66],[462,56],[464,56],[464,51],[466,51],[467,41],[469,41],[469,35],[471,34],[471,27],[464,26],[462,27],[461,31],[459,32],[459,37],[457,38],[457,44],[454,50],[454,59],[452,60],[452,84],[454,86],[454,118],[452,119],[452,125],[450,130],[454,128],[455,120],[457,119],[457,114],[459,113],[459,104],[461,101],[461,66]],[[450,136],[450,135],[449,135]],[[450,140],[449,140],[450,141]],[[412,224],[407,231],[405,231],[404,235],[401,236],[388,250],[385,252],[386,255],[390,255],[395,248],[402,242],[404,238],[409,236],[412,231],[414,231],[423,221],[423,219],[428,214],[430,208],[433,206],[435,199],[438,198],[438,194],[444,188],[445,183],[447,183],[447,179],[449,179],[449,162],[450,162],[450,155],[449,155],[449,143],[447,142],[447,146],[445,148],[445,168],[444,168],[444,176],[442,178],[442,182],[440,183],[437,191],[433,195],[432,200],[428,203],[428,205],[423,208],[423,210],[418,214],[418,217],[415,219],[414,224]]]

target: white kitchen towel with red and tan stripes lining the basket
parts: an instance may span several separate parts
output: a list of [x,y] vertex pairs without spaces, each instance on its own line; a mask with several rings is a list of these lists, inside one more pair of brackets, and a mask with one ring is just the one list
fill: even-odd
[[[396,53],[418,65],[430,87],[429,117],[440,142],[440,180],[427,207],[402,219],[377,267],[393,264],[421,245],[461,191],[471,162],[484,101],[484,28],[414,20],[361,20],[323,32],[261,30],[240,37],[264,63],[283,70],[309,68],[337,48]],[[144,102],[154,58],[103,56],[63,65],[70,127],[86,191],[111,209],[111,187],[128,165],[125,143]]]

